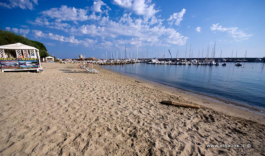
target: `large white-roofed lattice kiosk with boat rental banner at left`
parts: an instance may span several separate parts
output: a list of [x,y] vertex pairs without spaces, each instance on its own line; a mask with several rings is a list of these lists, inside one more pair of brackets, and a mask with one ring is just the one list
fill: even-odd
[[[16,57],[12,58],[11,51],[15,51]],[[1,71],[42,70],[39,49],[22,43],[0,46]]]

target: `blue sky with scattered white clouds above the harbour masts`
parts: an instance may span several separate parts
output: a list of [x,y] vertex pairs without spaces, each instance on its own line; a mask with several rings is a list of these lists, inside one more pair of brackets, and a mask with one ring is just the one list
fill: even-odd
[[[0,27],[42,42],[60,58],[265,56],[265,1],[2,0]],[[170,57],[170,56],[169,56]]]

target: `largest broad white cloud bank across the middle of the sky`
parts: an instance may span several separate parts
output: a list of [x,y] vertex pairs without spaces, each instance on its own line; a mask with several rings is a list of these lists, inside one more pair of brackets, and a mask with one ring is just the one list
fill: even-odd
[[[123,14],[118,22],[109,20],[108,17],[102,18],[100,22],[104,23],[99,26],[83,25],[77,29],[73,29],[75,33],[87,34],[92,37],[118,37],[127,36],[134,38],[136,41],[141,41],[145,45],[162,45],[162,42],[171,44],[184,45],[188,37],[182,36],[173,28],[165,28],[158,24],[157,26],[150,27],[141,18],[132,19],[131,13]],[[100,23],[99,22],[99,23]],[[124,40],[123,40],[124,41]],[[116,42],[116,41],[115,41]],[[143,43],[145,42],[145,43]],[[128,41],[128,43],[131,43]]]

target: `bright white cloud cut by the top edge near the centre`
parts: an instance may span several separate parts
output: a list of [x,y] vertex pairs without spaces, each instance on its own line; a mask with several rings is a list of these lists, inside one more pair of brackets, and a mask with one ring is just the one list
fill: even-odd
[[155,4],[150,3],[149,0],[113,0],[113,4],[125,8],[127,11],[132,11],[136,15],[142,15],[146,19],[160,11],[154,8]]

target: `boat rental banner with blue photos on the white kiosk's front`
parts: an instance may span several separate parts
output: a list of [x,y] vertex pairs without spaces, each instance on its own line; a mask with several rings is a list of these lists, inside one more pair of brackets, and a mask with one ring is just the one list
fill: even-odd
[[2,69],[38,68],[36,58],[0,58]]

